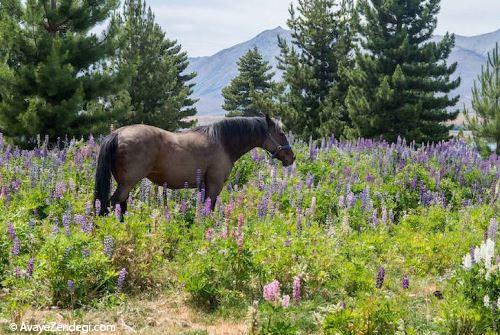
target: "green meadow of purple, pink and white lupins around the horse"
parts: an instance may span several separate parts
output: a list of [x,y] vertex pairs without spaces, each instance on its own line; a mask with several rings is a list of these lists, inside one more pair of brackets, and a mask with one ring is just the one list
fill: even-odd
[[293,141],[291,167],[261,150],[238,161],[214,211],[201,180],[143,180],[122,223],[119,207],[94,215],[98,142],[21,151],[0,139],[4,319],[183,294],[207,322],[252,334],[500,327],[499,157],[458,140]]

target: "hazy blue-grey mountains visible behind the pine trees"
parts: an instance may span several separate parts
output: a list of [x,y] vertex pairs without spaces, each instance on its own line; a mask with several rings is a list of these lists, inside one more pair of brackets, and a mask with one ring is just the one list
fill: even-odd
[[[276,56],[279,55],[278,36],[291,41],[291,33],[281,27],[266,30],[249,41],[237,44],[231,48],[224,49],[212,56],[190,58],[190,64],[186,71],[198,73],[194,79],[194,97],[198,98],[198,115],[223,115],[225,111],[222,106],[222,88],[227,86],[231,79],[238,74],[236,62],[249,49],[257,47],[264,59],[275,68],[275,79],[279,79],[281,73],[276,70]],[[442,36],[435,36],[439,41]],[[453,92],[460,94],[460,102],[457,107],[470,106],[471,88],[474,79],[481,72],[481,66],[486,63],[487,54],[500,42],[500,30],[477,36],[456,35],[456,45],[453,49],[449,62],[458,62],[455,76],[462,78],[460,87]]]

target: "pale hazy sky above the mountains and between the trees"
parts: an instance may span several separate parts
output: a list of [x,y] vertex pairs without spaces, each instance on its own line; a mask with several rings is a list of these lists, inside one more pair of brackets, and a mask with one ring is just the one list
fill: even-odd
[[[146,0],[169,38],[208,56],[265,29],[286,27],[291,0]],[[500,0],[442,0],[437,33],[478,35],[500,29]]]

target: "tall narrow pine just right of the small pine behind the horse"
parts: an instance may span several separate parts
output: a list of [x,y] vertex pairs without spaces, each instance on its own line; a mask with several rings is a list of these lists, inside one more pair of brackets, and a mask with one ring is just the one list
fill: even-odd
[[279,39],[285,83],[281,115],[302,138],[351,133],[343,73],[353,66],[353,7],[350,0],[299,0],[290,6],[292,45]]

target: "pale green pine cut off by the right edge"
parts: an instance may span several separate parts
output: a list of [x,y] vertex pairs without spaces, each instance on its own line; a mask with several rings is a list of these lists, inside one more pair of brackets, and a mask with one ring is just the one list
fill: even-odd
[[[477,85],[479,82],[479,87]],[[493,141],[500,156],[500,57],[498,43],[472,89],[474,115],[466,114],[467,126],[479,140]]]

